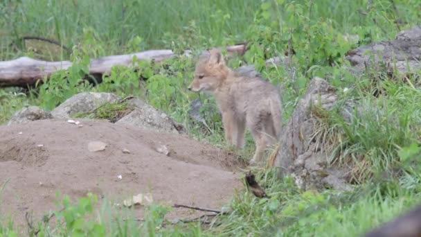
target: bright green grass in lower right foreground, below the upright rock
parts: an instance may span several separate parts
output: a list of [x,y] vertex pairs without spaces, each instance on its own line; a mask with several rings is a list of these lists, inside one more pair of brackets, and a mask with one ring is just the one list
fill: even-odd
[[417,191],[384,182],[359,186],[352,192],[301,191],[292,179],[279,180],[274,170],[260,175],[270,200],[247,191],[231,201],[234,210],[212,231],[221,236],[359,236],[392,220],[420,202]]

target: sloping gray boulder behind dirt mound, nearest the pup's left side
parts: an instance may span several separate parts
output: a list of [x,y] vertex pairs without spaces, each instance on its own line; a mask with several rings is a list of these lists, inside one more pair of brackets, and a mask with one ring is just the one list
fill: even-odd
[[138,98],[129,100],[129,106],[134,107],[134,110],[116,123],[134,125],[156,132],[170,132],[174,134],[186,132],[183,125],[175,123],[167,114],[160,112],[158,109],[155,109]]

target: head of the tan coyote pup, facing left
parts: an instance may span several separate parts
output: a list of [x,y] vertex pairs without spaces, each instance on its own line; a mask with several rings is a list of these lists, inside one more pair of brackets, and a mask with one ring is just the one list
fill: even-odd
[[195,69],[195,78],[188,86],[190,91],[199,92],[215,91],[228,76],[229,68],[226,67],[224,57],[217,50],[202,57]]

